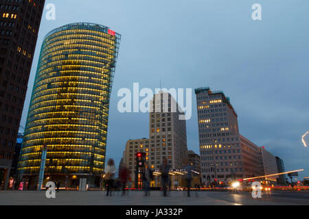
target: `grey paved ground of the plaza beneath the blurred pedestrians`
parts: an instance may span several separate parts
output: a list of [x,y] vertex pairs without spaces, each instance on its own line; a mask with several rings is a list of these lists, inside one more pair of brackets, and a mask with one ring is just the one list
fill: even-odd
[[113,192],[106,196],[100,191],[60,191],[56,198],[46,198],[45,191],[0,191],[0,205],[309,205],[309,192],[263,193],[262,198],[252,198],[249,192],[144,192],[130,191],[128,195]]

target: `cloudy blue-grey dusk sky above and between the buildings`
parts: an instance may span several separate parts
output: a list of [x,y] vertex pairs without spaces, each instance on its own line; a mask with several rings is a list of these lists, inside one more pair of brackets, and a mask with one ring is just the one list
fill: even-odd
[[[45,35],[62,25],[98,23],[122,34],[111,95],[106,159],[119,164],[126,141],[149,138],[148,114],[117,110],[121,88],[222,90],[238,114],[242,136],[309,177],[308,0],[47,0],[21,125],[25,127],[38,55]],[[262,21],[253,21],[253,3]],[[196,98],[187,120],[187,147],[199,152]],[[309,144],[309,136],[306,138]]]

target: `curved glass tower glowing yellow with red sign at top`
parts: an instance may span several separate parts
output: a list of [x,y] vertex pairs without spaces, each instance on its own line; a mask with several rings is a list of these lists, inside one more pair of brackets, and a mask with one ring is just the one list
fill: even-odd
[[121,36],[108,27],[73,23],[44,39],[19,159],[19,175],[104,171],[108,110]]

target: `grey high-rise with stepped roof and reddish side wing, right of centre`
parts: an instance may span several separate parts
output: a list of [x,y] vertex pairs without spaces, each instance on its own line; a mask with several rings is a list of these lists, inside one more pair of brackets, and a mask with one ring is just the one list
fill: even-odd
[[195,90],[202,183],[263,175],[259,147],[240,136],[238,116],[223,92]]

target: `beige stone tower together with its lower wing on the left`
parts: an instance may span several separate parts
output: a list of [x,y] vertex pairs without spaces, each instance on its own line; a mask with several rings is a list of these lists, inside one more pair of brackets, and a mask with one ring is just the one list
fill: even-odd
[[[189,161],[187,157],[187,132],[185,120],[181,108],[172,95],[168,92],[159,92],[150,101],[149,114],[149,139],[128,140],[124,151],[123,162],[128,166],[132,177],[132,185],[135,180],[135,153],[146,153],[146,162],[154,171],[155,181],[151,186],[161,186],[159,168],[163,159],[168,159],[172,185],[174,181],[180,181],[181,168]],[[179,174],[181,172],[181,174]]]

